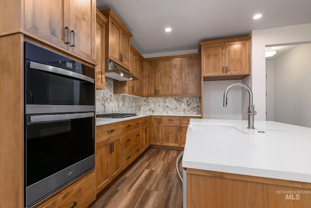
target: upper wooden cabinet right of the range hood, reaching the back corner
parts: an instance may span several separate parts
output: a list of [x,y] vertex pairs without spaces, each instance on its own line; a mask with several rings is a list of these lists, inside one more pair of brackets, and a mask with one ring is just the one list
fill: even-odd
[[144,57],[131,45],[131,73],[138,81],[114,82],[113,93],[143,96],[143,60]]

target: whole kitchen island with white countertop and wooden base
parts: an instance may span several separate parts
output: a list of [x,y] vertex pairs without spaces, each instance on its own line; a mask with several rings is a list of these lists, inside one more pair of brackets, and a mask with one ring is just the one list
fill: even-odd
[[187,208],[310,206],[311,128],[191,119],[186,138]]

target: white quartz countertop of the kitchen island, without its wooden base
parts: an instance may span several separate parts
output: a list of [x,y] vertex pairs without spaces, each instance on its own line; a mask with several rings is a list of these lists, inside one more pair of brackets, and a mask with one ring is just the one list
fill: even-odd
[[310,183],[311,128],[275,121],[255,121],[254,126],[191,119],[183,167]]

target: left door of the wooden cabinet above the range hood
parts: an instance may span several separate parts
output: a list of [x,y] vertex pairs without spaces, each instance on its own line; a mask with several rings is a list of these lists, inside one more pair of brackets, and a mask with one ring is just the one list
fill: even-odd
[[120,34],[121,29],[117,23],[110,18],[109,19],[109,58],[121,63],[120,59]]

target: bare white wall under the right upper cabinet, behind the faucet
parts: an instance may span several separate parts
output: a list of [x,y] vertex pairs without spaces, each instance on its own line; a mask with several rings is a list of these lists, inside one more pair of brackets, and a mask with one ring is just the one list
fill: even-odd
[[227,107],[223,106],[226,87],[241,82],[241,80],[203,82],[203,118],[241,120],[242,87],[231,88],[227,95]]

